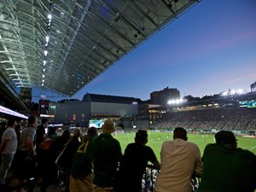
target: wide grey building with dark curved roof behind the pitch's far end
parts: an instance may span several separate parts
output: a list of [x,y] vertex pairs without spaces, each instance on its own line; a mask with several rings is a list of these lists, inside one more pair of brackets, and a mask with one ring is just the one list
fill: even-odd
[[112,118],[120,125],[133,126],[134,123],[124,124],[122,119],[136,119],[140,102],[134,97],[87,93],[82,101],[50,102],[49,119],[55,124],[94,125],[100,128],[104,119]]

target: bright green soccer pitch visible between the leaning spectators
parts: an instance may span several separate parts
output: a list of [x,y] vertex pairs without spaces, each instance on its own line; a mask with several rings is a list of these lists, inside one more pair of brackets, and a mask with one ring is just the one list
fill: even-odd
[[[127,144],[134,142],[135,133],[123,133],[117,134],[114,136],[119,140],[121,144],[122,151],[125,151]],[[204,135],[201,134],[189,134],[189,142],[196,143],[201,150],[201,155],[203,154],[204,148],[208,143],[214,142],[214,135]],[[247,149],[256,154],[256,139],[255,138],[247,138],[247,137],[236,137],[238,139],[238,147]],[[160,149],[163,142],[166,140],[172,140],[172,133],[166,132],[151,132],[148,131],[148,143],[147,145],[154,150],[154,154],[157,156],[158,160],[160,160]]]

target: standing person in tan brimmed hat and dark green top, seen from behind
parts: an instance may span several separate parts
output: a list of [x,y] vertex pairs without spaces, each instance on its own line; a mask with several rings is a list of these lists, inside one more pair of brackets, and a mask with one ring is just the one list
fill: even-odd
[[102,134],[93,139],[95,192],[113,191],[113,182],[122,157],[119,141],[111,135],[114,131],[113,120],[107,119],[102,125]]

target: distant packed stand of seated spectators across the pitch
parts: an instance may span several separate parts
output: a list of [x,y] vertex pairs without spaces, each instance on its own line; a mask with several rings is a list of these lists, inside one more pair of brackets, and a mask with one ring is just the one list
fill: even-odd
[[181,126],[189,131],[256,129],[255,108],[216,108],[164,113],[154,123],[156,129],[172,129]]

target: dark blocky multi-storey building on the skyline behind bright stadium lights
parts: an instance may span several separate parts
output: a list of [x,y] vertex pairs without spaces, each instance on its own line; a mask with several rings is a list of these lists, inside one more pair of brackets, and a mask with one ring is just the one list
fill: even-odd
[[154,91],[150,93],[151,104],[159,104],[165,106],[170,100],[180,99],[179,90],[166,87],[164,90]]

